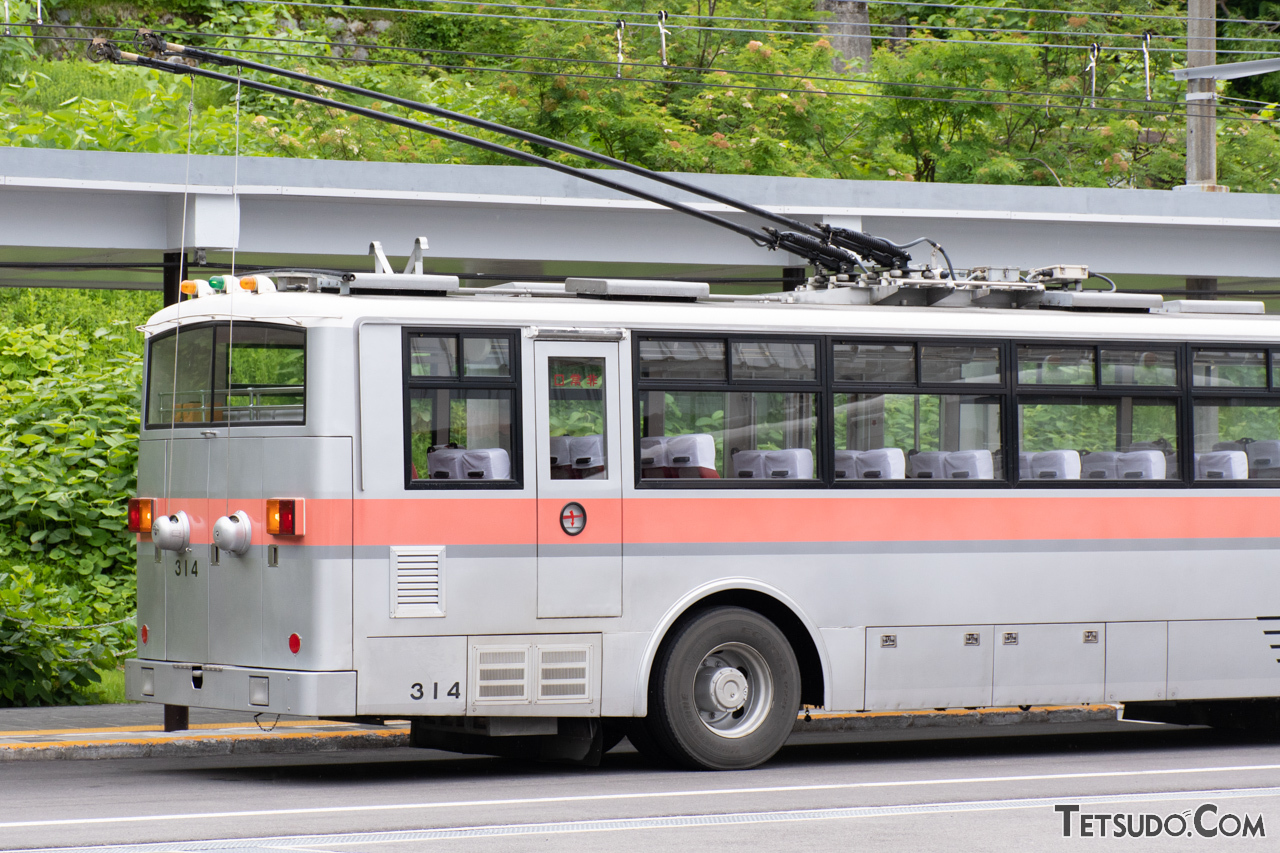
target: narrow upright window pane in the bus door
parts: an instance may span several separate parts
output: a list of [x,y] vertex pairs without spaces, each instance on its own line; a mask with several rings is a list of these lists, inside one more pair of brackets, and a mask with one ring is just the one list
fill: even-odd
[[608,479],[604,359],[549,359],[547,365],[550,478]]

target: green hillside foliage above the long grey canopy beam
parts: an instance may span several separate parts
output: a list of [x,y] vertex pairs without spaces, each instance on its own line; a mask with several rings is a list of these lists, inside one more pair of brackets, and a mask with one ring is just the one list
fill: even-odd
[[[1276,3],[1234,0],[1224,12],[1267,19]],[[980,5],[991,6],[992,0]],[[1180,42],[1169,37],[1185,35],[1185,8],[1178,4],[1082,0],[1062,13],[1028,12],[1025,4],[1009,9],[872,4],[878,49],[872,70],[852,76],[833,70],[837,56],[815,26],[826,13],[815,12],[812,0],[686,0],[664,6],[698,18],[698,27],[673,29],[669,65],[662,65],[657,31],[631,27],[621,77],[613,28],[566,22],[573,17],[567,9],[516,5],[493,13],[508,18],[433,14],[458,9],[415,0],[367,0],[342,10],[223,0],[186,0],[177,9],[159,0],[129,6],[64,0],[60,8],[77,20],[104,26],[202,29],[216,35],[193,41],[211,47],[241,47],[238,37],[246,35],[280,38],[269,50],[282,55],[266,61],[425,100],[655,169],[1133,188],[1169,188],[1185,174],[1183,87],[1170,73],[1180,55],[1151,54],[1148,104],[1142,54],[1115,49],[1137,45],[1128,36],[1139,23],[1152,31],[1155,47],[1176,47]],[[609,12],[652,14],[640,0],[620,0]],[[1138,20],[1098,12],[1165,18]],[[1043,35],[1011,32],[1016,29]],[[1224,50],[1262,50],[1277,38],[1261,24],[1224,23],[1220,31],[1224,40],[1238,40],[1224,41]],[[1079,50],[1093,42],[1103,46],[1096,92],[1088,54]],[[352,56],[384,64],[349,61]],[[344,61],[325,61],[332,58]],[[186,150],[189,81],[160,79],[138,69],[86,70],[79,61],[28,58],[10,67],[6,93],[0,96],[0,143]],[[1254,78],[1252,88],[1236,81],[1225,92],[1274,97],[1267,87],[1280,92],[1280,83],[1267,82],[1271,78],[1280,81],[1275,74]],[[125,91],[119,85],[124,79],[136,86]],[[234,87],[202,81],[195,88],[192,150],[233,151]],[[1220,108],[1220,181],[1235,191],[1280,190],[1280,133],[1274,120],[1280,108],[1270,102]],[[241,105],[239,149],[247,155],[509,163],[502,155],[251,90]],[[522,147],[582,165],[568,155]]]

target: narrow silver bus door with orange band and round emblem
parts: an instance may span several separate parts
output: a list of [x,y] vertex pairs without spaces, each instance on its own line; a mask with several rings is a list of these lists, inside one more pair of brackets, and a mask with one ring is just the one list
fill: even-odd
[[622,615],[618,345],[534,343],[538,616]]

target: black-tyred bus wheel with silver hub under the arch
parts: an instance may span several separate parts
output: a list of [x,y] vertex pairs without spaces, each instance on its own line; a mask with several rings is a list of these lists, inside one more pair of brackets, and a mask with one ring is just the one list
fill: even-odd
[[677,763],[745,770],[782,748],[800,711],[800,666],[777,625],[716,607],[682,625],[659,656],[646,729]]

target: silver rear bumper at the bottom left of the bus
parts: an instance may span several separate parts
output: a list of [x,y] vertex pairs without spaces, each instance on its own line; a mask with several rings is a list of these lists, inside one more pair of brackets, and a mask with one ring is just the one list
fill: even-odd
[[351,671],[264,670],[138,658],[124,662],[124,685],[133,702],[302,717],[356,713],[356,674]]

